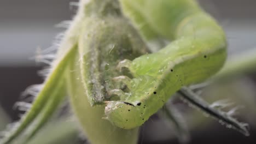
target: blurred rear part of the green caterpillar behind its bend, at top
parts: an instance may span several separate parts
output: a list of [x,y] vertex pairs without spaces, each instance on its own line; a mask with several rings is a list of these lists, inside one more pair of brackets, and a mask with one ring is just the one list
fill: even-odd
[[188,15],[201,13],[191,0],[119,0],[124,14],[147,40],[175,39],[177,26]]

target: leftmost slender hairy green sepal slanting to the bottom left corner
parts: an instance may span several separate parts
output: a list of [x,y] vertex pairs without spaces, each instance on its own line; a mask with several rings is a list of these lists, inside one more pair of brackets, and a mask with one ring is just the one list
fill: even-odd
[[[55,61],[57,63],[56,67],[53,68],[53,71],[50,73],[50,75],[47,77],[47,79],[44,82],[44,87],[42,89],[42,91],[39,92],[39,94],[37,95],[36,100],[33,102],[33,105],[31,107],[31,109],[29,111],[27,111],[27,113],[25,114],[25,117],[22,118],[20,120],[20,123],[18,125],[18,127],[16,127],[15,129],[10,131],[10,134],[8,136],[5,136],[4,139],[1,141],[1,143],[10,143],[11,141],[13,141],[17,136],[19,136],[27,127],[30,126],[30,124],[32,122],[35,121],[35,119],[38,117],[38,115],[40,114],[40,112],[42,111],[46,111],[44,108],[44,105],[47,104],[49,102],[50,99],[52,99],[53,97],[63,97],[63,95],[61,95],[62,93],[55,93],[55,95],[52,95],[54,92],[58,92],[60,91],[59,88],[56,89],[56,86],[61,85],[60,82],[62,77],[63,77],[63,71],[65,71],[66,69],[66,64],[69,61],[69,59],[72,57],[72,55],[74,54],[75,49],[69,49],[69,51],[66,53],[66,55],[64,55],[63,57],[61,57],[60,59],[58,59],[59,61]],[[61,91],[63,91],[63,89],[61,89]],[[53,97],[50,97],[53,96]],[[61,101],[55,101],[55,105],[59,105]],[[51,109],[52,107],[46,107],[46,109],[50,108],[50,111],[54,111],[55,109]],[[49,111],[49,110],[47,110]],[[46,117],[50,117],[50,115],[48,115],[49,113],[45,113],[47,116]],[[44,119],[44,117],[41,117]],[[45,120],[40,119],[39,121],[43,122]],[[40,122],[38,123],[39,127],[42,127]],[[39,128],[38,127],[38,128]],[[37,128],[34,129],[35,131],[37,131]]]

